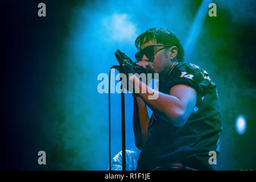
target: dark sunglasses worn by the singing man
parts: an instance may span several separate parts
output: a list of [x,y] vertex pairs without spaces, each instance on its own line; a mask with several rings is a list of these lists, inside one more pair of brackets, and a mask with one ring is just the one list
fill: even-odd
[[[156,47],[163,47],[163,48],[160,48],[155,52],[154,51],[155,46]],[[162,49],[167,48],[167,47],[171,47],[171,46],[166,46],[166,45],[147,46],[144,49],[142,49],[141,51],[137,52],[135,54],[135,58],[136,58],[137,61],[142,61],[142,57],[145,55],[150,62],[154,62],[155,54],[158,53],[158,51],[161,51]]]

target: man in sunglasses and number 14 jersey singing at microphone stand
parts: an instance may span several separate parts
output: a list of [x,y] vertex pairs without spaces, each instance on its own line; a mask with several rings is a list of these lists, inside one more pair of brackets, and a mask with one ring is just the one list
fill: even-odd
[[[142,150],[137,170],[212,170],[209,152],[218,155],[222,131],[217,86],[204,69],[183,61],[183,46],[169,30],[150,28],[135,46],[135,64],[159,73],[159,91],[129,77],[139,92],[133,116],[135,144]],[[154,94],[158,98],[148,97]]]

